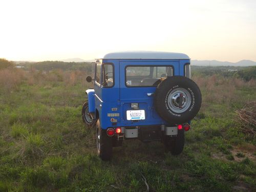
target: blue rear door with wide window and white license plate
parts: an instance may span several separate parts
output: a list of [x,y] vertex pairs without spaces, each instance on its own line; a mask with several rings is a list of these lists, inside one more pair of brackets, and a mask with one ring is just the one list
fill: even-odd
[[[122,124],[163,124],[154,110],[154,92],[161,77],[179,75],[179,61],[123,60],[119,69]],[[138,108],[132,108],[132,103],[138,103]]]

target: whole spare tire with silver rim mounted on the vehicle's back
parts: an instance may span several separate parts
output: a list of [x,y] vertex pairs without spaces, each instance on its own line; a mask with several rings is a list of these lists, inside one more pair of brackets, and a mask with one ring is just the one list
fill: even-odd
[[162,79],[154,94],[159,116],[170,124],[185,123],[200,110],[202,96],[197,84],[184,76]]

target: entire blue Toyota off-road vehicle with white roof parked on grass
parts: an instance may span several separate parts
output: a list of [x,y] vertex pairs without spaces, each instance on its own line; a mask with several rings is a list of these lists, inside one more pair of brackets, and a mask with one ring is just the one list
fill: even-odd
[[125,139],[162,141],[178,155],[184,131],[201,107],[201,92],[190,79],[190,59],[182,53],[118,52],[95,61],[94,89],[86,90],[82,119],[96,123],[98,155],[110,160]]

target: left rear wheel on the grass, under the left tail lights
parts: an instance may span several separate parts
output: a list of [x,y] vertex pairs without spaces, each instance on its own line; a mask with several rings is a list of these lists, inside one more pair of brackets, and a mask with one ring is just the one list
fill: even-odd
[[112,141],[113,138],[106,135],[106,130],[102,130],[100,120],[96,123],[96,144],[99,157],[108,161],[112,157]]

